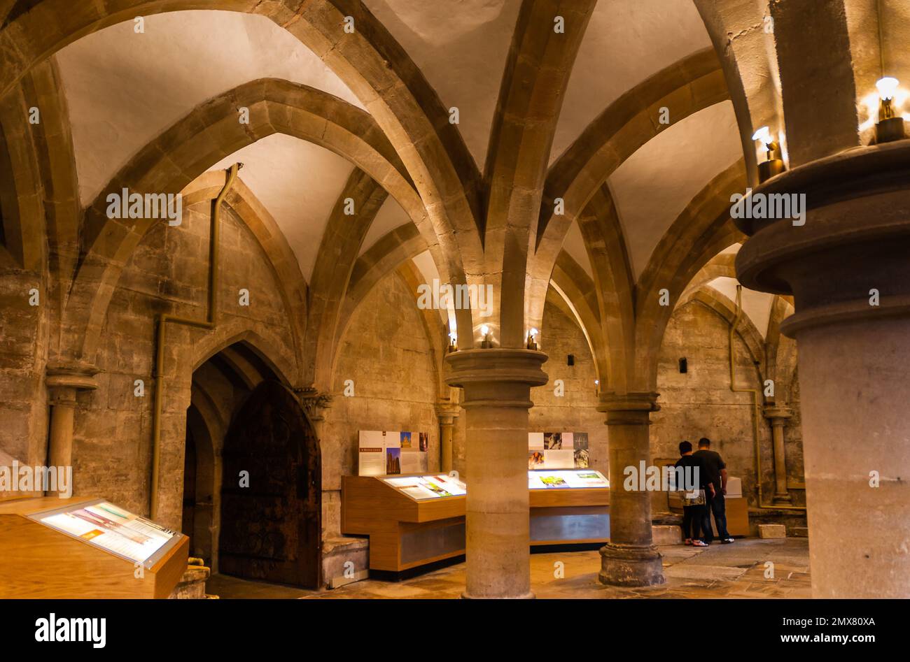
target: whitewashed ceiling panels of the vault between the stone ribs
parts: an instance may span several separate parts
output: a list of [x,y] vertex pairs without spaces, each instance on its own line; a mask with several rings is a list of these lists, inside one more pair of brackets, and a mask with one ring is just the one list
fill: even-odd
[[[520,0],[365,0],[364,5],[420,68],[443,107],[459,108],[458,131],[483,170]],[[317,55],[264,16],[180,11],[145,21],[144,34],[136,34],[130,20],[86,35],[55,55],[83,205],[168,126],[250,80],[275,77],[310,85],[365,109]],[[623,93],[710,45],[691,2],[600,0],[571,71],[551,164]],[[741,155],[732,105],[724,102],[681,121],[671,115],[671,125],[609,176],[634,277],[693,196]],[[245,163],[241,178],[275,218],[309,280],[329,214],[353,166],[328,149],[286,135],[258,140],[210,169],[235,161]],[[389,196],[363,237],[359,256],[412,220]],[[577,223],[571,223],[562,249],[592,276]],[[415,257],[415,264],[428,280],[439,277],[429,252]]]

